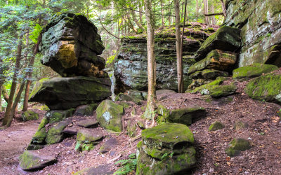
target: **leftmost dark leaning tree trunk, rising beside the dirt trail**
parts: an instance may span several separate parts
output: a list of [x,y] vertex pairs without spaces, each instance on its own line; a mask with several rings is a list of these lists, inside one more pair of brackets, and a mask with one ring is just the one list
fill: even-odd
[[11,85],[8,104],[6,107],[6,112],[5,112],[5,116],[4,116],[4,120],[3,120],[3,125],[6,125],[7,127],[11,126],[11,123],[8,123],[8,122],[13,119],[13,118],[11,118],[10,114],[11,114],[11,109],[12,109],[12,104],[13,104],[13,97],[15,95],[15,87],[17,85],[17,77],[18,77],[18,71],[19,71],[18,69],[20,68],[20,59],[21,59],[21,55],[22,55],[22,37],[23,37],[23,34],[20,34],[19,42],[18,42],[18,52],[17,52],[17,57],[15,59],[15,70],[13,73],[13,82]]

